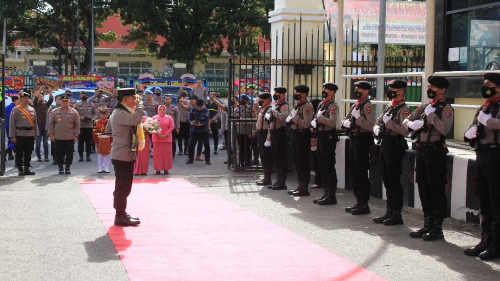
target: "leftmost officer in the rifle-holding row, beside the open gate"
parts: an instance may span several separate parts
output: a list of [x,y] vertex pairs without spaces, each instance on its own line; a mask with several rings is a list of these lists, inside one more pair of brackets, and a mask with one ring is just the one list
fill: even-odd
[[272,185],[272,152],[271,152],[271,134],[269,131],[269,122],[264,119],[265,114],[270,112],[271,94],[268,92],[258,95],[258,105],[260,110],[257,114],[257,142],[260,160],[262,160],[262,168],[264,170],[264,178],[256,181],[257,185]]

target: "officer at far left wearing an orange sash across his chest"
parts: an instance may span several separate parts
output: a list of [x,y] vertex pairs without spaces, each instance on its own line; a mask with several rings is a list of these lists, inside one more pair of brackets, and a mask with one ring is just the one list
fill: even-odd
[[[34,141],[38,137],[36,113],[29,103],[29,93],[19,93],[19,105],[12,108],[9,119],[10,141],[14,143],[15,165],[18,175],[33,175],[29,170]],[[23,168],[24,165],[24,168]]]

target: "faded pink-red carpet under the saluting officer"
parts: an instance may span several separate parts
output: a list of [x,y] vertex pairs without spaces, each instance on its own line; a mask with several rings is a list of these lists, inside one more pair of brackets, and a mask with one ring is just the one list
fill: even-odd
[[114,226],[113,180],[82,180],[131,280],[384,280],[181,178],[135,179]]

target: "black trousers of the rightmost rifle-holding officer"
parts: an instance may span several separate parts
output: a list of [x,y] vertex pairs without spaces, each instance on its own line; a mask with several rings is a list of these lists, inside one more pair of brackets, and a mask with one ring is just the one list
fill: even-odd
[[500,234],[500,148],[476,152],[475,188],[483,232]]

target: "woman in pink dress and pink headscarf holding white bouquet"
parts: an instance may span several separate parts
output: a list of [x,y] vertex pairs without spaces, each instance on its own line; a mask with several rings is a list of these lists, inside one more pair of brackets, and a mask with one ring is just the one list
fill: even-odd
[[166,115],[166,107],[163,104],[158,106],[158,115],[152,118],[158,120],[161,127],[161,130],[154,132],[151,138],[154,146],[153,168],[156,174],[160,174],[161,170],[168,173],[168,170],[172,168],[173,119],[170,115]]

